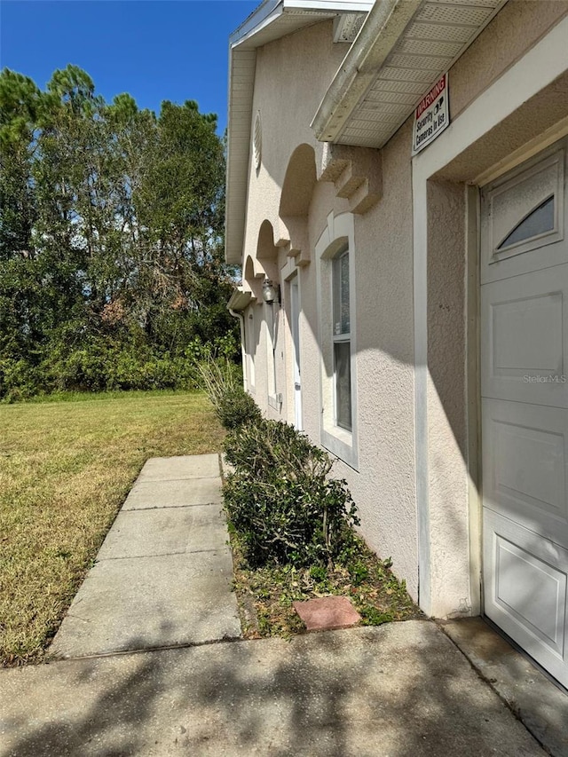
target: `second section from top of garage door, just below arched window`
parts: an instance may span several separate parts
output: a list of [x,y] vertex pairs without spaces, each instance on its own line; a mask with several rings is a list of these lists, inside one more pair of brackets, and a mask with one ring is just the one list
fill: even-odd
[[486,284],[482,397],[568,407],[568,268]]

